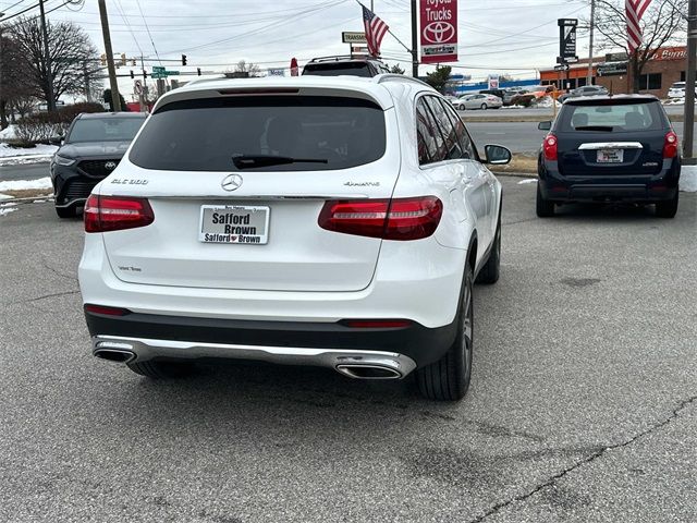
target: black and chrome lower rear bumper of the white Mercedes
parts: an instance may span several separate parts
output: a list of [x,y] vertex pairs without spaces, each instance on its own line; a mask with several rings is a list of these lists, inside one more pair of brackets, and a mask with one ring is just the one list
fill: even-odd
[[132,313],[85,312],[93,352],[133,352],[148,360],[229,358],[335,368],[351,358],[398,362],[401,377],[438,361],[453,343],[455,323],[433,329],[352,328],[340,323],[254,321]]

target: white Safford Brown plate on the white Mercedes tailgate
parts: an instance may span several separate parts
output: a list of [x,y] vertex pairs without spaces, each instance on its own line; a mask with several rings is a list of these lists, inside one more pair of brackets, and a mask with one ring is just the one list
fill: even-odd
[[269,241],[269,207],[201,205],[198,241],[265,245]]

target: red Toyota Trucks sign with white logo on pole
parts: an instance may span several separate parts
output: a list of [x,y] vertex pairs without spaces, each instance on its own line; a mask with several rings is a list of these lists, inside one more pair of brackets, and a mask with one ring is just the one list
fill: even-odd
[[420,0],[421,63],[457,61],[457,0]]

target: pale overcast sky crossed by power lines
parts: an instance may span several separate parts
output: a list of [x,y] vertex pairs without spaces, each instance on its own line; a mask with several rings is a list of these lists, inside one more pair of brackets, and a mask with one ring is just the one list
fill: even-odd
[[[46,9],[63,1],[46,0]],[[2,0],[0,10],[7,19],[35,3]],[[369,7],[370,0],[364,3]],[[409,45],[411,2],[374,3],[378,16]],[[159,56],[169,69],[184,71],[195,71],[196,66],[224,71],[240,60],[262,69],[288,66],[292,57],[302,65],[316,56],[346,53],[348,47],[341,42],[341,32],[363,31],[355,0],[107,0],[107,7],[114,53],[125,52],[129,58],[144,54],[146,65],[157,64]],[[559,52],[557,19],[588,14],[586,0],[460,0],[460,61],[451,64],[453,73],[472,74],[474,78],[485,78],[489,73],[535,77],[536,69],[554,64]],[[48,17],[80,24],[103,51],[96,0],[87,0],[80,10],[62,7]],[[586,32],[580,31],[580,56],[587,53],[587,40]],[[182,53],[187,56],[189,68],[164,61],[179,60]],[[409,71],[409,56],[389,34],[382,42],[382,54],[389,64],[401,61]],[[428,70],[421,65],[420,73]]]

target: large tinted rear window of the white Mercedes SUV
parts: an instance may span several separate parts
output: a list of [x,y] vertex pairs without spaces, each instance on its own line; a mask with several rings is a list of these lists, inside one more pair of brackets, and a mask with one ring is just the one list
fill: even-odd
[[369,163],[384,149],[384,113],[368,100],[235,96],[162,107],[129,158],[170,171],[317,171]]

